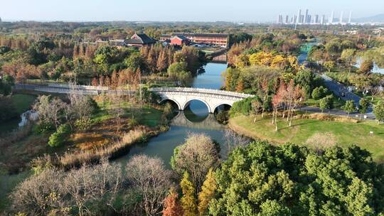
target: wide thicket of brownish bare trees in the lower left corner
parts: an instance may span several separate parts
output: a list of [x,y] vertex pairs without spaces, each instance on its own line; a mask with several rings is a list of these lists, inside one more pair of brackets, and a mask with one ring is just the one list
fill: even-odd
[[102,159],[96,166],[58,171],[47,168],[24,180],[11,194],[14,212],[28,215],[69,215],[71,208],[79,215],[100,215],[113,203],[122,189],[121,166]]

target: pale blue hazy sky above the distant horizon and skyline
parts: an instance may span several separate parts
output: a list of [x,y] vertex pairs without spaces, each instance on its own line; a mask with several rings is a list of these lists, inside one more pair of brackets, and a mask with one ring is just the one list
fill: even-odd
[[279,13],[353,18],[384,13],[384,0],[0,0],[4,20],[34,21],[275,21]]

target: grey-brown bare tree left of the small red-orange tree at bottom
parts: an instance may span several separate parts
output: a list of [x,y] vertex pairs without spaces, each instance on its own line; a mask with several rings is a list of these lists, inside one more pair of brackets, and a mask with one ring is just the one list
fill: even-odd
[[171,171],[167,171],[160,158],[134,156],[126,167],[127,179],[142,198],[139,207],[146,215],[158,215],[166,193],[171,187]]

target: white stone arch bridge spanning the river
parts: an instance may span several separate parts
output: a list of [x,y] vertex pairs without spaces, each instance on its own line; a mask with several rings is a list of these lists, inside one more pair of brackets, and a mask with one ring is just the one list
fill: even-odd
[[164,87],[152,88],[161,97],[161,102],[171,100],[177,104],[178,110],[184,110],[192,100],[198,100],[206,104],[208,112],[213,113],[220,105],[227,104],[232,107],[238,102],[253,95],[221,90],[199,89],[190,87]]

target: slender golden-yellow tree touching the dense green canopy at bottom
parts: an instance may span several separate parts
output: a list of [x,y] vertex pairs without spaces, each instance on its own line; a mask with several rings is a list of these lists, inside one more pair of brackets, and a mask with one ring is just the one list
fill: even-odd
[[206,215],[210,200],[215,195],[215,190],[218,187],[213,170],[210,169],[207,174],[207,178],[201,187],[201,192],[198,193],[198,214]]

